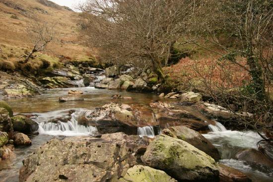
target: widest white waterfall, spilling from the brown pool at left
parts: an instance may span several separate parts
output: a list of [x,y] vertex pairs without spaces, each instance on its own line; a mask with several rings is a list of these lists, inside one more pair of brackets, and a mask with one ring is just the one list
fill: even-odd
[[38,122],[39,133],[49,135],[82,136],[90,135],[92,132],[97,131],[96,127],[78,124],[76,118],[79,114],[81,113],[75,112],[71,114],[72,118],[67,122]]

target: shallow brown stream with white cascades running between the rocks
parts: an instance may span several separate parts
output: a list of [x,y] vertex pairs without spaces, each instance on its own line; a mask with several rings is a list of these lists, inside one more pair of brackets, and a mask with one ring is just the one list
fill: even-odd
[[[69,90],[82,91],[84,101],[70,101],[65,103],[58,102],[59,97],[67,96]],[[130,100],[111,100],[111,96],[121,94],[130,96]],[[70,136],[89,135],[96,127],[83,126],[77,124],[77,117],[81,116],[86,110],[101,107],[110,102],[120,102],[129,105],[147,106],[151,101],[158,100],[155,94],[132,93],[118,90],[95,89],[94,87],[80,88],[59,88],[46,89],[31,98],[8,99],[8,104],[13,111],[23,115],[31,116],[31,119],[39,123],[39,135],[31,136],[32,145],[29,147],[16,147],[14,155],[0,163],[0,182],[18,182],[19,169],[22,160],[32,153],[34,148],[52,138],[64,139]],[[69,111],[74,110],[69,118]],[[47,122],[56,118],[67,119],[68,122]],[[227,130],[222,124],[210,125],[211,132],[203,134],[205,138],[219,150],[221,155],[220,163],[236,168],[244,172],[254,182],[272,182],[273,169],[250,165],[244,161],[232,159],[236,151],[242,148],[255,148],[256,143],[261,137],[253,131],[231,131]],[[159,131],[157,131],[159,132]],[[154,137],[154,128],[151,126],[138,127],[139,136]],[[272,155],[272,149],[271,151]]]

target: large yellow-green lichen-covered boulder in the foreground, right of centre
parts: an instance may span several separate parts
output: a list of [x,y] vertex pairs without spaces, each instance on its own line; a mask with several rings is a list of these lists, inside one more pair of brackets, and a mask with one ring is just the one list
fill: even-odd
[[142,161],[178,181],[219,181],[219,171],[210,156],[183,140],[167,135],[155,137]]

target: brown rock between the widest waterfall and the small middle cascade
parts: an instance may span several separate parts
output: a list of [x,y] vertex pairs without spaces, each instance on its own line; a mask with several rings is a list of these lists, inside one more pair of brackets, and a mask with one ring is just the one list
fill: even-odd
[[126,104],[109,103],[87,111],[85,117],[89,122],[95,122],[102,134],[114,132],[137,134],[137,121],[131,106]]

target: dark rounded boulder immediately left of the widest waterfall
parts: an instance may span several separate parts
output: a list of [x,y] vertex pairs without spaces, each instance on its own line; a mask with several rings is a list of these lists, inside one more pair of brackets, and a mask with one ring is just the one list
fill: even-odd
[[13,130],[19,131],[22,133],[31,133],[37,131],[39,124],[31,119],[28,119],[25,116],[14,116],[11,117]]

